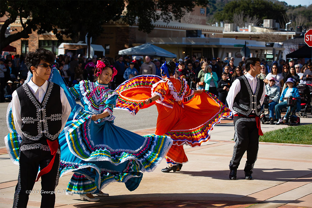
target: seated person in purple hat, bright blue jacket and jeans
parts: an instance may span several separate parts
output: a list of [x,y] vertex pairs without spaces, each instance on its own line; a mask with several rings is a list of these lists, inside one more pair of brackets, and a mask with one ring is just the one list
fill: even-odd
[[288,87],[284,89],[282,92],[282,95],[280,96],[281,103],[275,105],[275,113],[276,113],[276,119],[279,119],[275,125],[280,125],[287,122],[287,119],[289,117],[290,112],[292,112],[294,107],[289,107],[287,109],[287,112],[285,114],[285,117],[282,119],[280,116],[280,111],[287,106],[287,98],[289,96],[292,96],[297,99],[297,109],[300,108],[300,94],[298,88],[294,87],[294,81],[292,78],[288,78],[288,80],[285,83]]

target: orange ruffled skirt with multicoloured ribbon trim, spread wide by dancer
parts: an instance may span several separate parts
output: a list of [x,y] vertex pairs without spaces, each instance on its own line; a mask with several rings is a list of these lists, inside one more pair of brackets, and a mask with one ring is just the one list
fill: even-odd
[[167,153],[167,162],[184,163],[188,159],[183,145],[200,146],[210,139],[213,126],[223,117],[230,117],[228,109],[215,95],[203,91],[192,99],[183,102],[183,107],[174,102],[173,108],[153,102],[144,106],[145,99],[151,97],[152,85],[160,80],[152,75],[140,75],[125,81],[115,90],[119,93],[116,108],[126,109],[135,115],[139,109],[156,104],[158,118],[156,135],[166,135],[173,139],[173,145]]

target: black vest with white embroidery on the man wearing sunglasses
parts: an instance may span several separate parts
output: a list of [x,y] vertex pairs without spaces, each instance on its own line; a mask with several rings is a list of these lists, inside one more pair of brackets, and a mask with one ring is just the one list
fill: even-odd
[[57,139],[62,128],[60,86],[49,82],[42,103],[27,84],[17,88],[16,92],[21,104],[22,139]]

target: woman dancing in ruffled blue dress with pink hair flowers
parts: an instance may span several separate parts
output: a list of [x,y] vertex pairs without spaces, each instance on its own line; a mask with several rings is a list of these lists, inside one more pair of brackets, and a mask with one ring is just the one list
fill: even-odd
[[[98,201],[92,194],[108,196],[100,190],[114,181],[124,182],[129,191],[135,190],[142,172],[153,171],[172,145],[170,137],[154,134],[142,137],[114,125],[112,112],[118,94],[109,89],[108,84],[116,73],[107,60],[98,61],[94,73],[96,82],[84,80],[69,91],[64,90],[72,113],[59,135],[60,176],[74,172],[67,191],[79,193],[81,200]],[[56,84],[62,86],[60,80]],[[75,99],[80,99],[83,107],[76,104]],[[14,125],[11,119],[8,116],[8,123]],[[15,141],[19,136],[11,132],[6,143],[11,158],[16,161],[18,143]]]

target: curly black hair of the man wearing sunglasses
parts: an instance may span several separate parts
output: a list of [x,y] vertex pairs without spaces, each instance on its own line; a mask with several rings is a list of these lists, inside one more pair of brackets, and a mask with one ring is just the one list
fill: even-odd
[[54,63],[55,56],[52,51],[38,48],[36,51],[30,51],[26,54],[25,64],[27,69],[32,73],[31,66],[36,66],[40,63],[41,60],[44,60],[50,64]]

